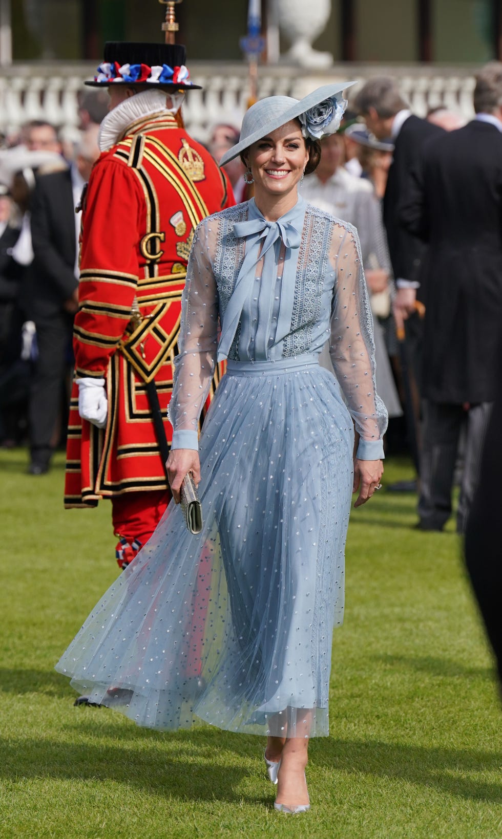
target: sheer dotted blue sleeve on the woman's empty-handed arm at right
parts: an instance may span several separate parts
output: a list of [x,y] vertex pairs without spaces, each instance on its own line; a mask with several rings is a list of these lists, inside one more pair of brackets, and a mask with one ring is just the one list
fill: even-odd
[[[342,237],[337,236],[337,230]],[[387,411],[375,388],[373,319],[358,234],[351,225],[335,227],[330,261],[337,272],[331,319],[332,365],[360,435],[358,457],[378,460],[384,456]]]

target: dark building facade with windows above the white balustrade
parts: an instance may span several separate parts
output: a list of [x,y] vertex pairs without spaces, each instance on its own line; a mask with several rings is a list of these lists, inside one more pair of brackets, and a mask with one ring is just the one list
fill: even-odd
[[[264,29],[275,2],[262,0]],[[176,14],[190,60],[240,60],[247,9],[248,0],[184,0]],[[97,60],[106,40],[158,40],[163,7],[155,0],[0,0],[0,18],[4,27],[10,18],[14,61]],[[502,57],[501,3],[332,0],[314,46],[335,62],[480,64]]]

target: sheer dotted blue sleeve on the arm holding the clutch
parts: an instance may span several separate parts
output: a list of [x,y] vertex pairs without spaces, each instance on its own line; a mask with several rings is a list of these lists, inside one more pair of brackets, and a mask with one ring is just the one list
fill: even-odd
[[[174,428],[172,449],[198,449],[197,424],[216,365],[217,286],[212,270],[212,222],[196,229],[181,299],[179,354],[175,357],[168,416]],[[217,222],[214,222],[216,228]]]

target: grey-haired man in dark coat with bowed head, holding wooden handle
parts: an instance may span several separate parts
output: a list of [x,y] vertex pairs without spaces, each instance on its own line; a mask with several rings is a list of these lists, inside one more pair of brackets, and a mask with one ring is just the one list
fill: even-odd
[[[380,140],[391,138],[395,144],[392,164],[384,193],[384,226],[389,243],[390,262],[395,278],[393,312],[398,335],[405,335],[401,346],[403,376],[406,393],[405,414],[411,451],[419,467],[420,371],[423,326],[417,312],[416,300],[423,300],[425,289],[420,287],[418,274],[424,245],[413,233],[405,230],[398,220],[398,206],[409,189],[410,173],[420,159],[431,138],[444,133],[442,128],[416,117],[401,96],[395,79],[375,76],[358,91],[353,107],[366,126]],[[421,283],[426,277],[421,272]],[[415,489],[416,482],[396,485],[396,489]]]

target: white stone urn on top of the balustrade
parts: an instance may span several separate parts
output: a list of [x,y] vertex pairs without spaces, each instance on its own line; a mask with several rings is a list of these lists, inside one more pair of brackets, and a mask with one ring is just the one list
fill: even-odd
[[331,0],[271,0],[280,32],[290,41],[285,58],[302,67],[322,68],[333,63],[328,52],[312,49],[312,42],[325,29]]

